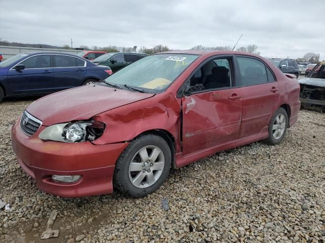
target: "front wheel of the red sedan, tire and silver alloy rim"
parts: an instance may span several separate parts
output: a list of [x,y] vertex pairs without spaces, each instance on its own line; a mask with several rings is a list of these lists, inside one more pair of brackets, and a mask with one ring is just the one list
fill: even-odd
[[[156,158],[150,159],[153,154]],[[171,161],[171,149],[163,138],[142,135],[133,140],[117,159],[113,185],[127,196],[144,197],[164,183]]]

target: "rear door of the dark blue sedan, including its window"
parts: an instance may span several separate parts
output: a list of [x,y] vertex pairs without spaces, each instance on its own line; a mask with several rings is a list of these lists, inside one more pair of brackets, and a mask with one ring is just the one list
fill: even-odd
[[69,55],[54,54],[53,64],[53,88],[56,91],[82,85],[87,70],[84,60]]

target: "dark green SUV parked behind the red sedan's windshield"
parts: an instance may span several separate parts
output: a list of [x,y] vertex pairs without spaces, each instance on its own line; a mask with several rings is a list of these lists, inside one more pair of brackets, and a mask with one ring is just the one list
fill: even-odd
[[93,60],[92,62],[97,65],[109,66],[113,72],[131,64],[147,54],[145,53],[134,53],[134,52],[116,52],[116,53],[106,53]]

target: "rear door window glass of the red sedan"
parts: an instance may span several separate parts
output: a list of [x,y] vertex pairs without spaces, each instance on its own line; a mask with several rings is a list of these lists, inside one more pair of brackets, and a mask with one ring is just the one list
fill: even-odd
[[238,57],[238,65],[243,86],[259,85],[268,82],[265,64],[253,58]]

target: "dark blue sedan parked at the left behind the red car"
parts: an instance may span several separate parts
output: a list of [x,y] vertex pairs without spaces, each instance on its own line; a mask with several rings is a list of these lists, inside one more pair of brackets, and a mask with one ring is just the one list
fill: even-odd
[[71,54],[21,53],[0,63],[4,97],[50,94],[106,78],[112,70]]

